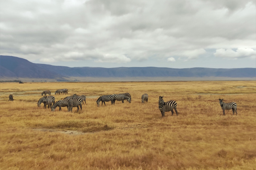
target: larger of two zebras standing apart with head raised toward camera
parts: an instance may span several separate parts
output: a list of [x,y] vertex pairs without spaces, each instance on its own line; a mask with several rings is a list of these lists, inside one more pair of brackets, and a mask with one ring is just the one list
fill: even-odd
[[177,111],[177,103],[176,101],[166,101],[164,102],[163,96],[159,96],[159,102],[158,102],[158,108],[160,109],[162,113],[162,117],[164,117],[164,112],[165,111],[171,111],[173,115],[173,109],[175,109],[176,114],[178,115]]

